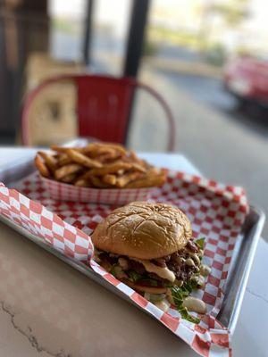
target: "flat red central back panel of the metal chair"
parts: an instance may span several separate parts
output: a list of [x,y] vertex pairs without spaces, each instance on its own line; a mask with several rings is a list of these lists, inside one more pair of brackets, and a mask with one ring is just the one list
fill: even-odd
[[77,77],[79,132],[82,137],[124,143],[134,87],[131,79]]

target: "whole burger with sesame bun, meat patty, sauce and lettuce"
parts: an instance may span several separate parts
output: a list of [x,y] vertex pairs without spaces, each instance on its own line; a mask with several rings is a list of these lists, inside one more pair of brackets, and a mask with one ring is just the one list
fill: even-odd
[[[188,217],[165,203],[133,202],[111,212],[92,235],[95,260],[115,278],[163,311],[174,304],[181,316],[205,313],[188,295],[204,285],[204,238],[194,240]],[[192,306],[198,305],[198,306]]]

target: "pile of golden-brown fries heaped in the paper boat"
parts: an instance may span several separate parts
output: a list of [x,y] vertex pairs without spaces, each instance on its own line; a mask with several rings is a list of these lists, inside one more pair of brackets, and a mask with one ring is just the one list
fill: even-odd
[[35,164],[41,176],[76,187],[160,187],[164,170],[158,170],[121,145],[92,143],[85,147],[51,146],[38,152]]

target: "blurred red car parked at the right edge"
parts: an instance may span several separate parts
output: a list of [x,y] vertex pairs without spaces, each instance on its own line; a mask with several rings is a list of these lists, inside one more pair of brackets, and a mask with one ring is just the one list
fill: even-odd
[[226,65],[223,80],[239,101],[268,105],[268,61],[236,58]]

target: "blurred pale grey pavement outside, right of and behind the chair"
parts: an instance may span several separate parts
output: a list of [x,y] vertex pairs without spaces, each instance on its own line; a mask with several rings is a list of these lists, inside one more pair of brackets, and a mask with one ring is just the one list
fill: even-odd
[[[144,70],[140,79],[162,93],[172,107],[176,151],[185,154],[206,177],[245,187],[249,202],[267,213],[268,136],[239,120],[230,120],[216,106],[198,101],[171,76]],[[137,104],[130,145],[140,151],[164,150],[167,130],[163,112],[145,94],[138,94]],[[268,238],[267,224],[264,237]]]

